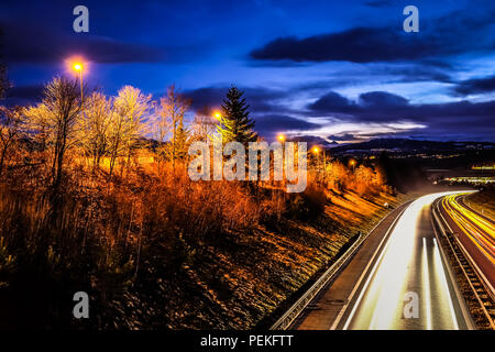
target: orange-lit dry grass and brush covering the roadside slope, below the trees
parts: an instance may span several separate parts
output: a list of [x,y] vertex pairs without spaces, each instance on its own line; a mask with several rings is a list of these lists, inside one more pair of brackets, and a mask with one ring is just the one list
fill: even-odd
[[[338,187],[310,174],[305,193],[286,194],[280,184],[195,183],[184,165],[158,173],[146,161],[109,177],[78,160],[56,191],[43,163],[9,170],[0,326],[250,328],[396,201],[372,178],[356,189],[349,170]],[[72,319],[77,290],[91,297],[82,322]]]

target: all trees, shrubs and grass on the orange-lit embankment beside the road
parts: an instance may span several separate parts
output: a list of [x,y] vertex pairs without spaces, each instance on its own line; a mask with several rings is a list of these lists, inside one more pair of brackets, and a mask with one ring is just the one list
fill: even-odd
[[78,87],[55,78],[38,105],[0,110],[1,327],[251,328],[400,200],[380,163],[330,156],[310,156],[301,194],[193,182],[193,141],[258,138],[242,92],[217,129],[208,108],[187,123],[174,86],[158,100]]

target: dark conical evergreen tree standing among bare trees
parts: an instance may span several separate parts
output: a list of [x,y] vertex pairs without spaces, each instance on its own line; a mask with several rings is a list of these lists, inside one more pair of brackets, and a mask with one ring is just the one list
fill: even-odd
[[249,118],[249,106],[243,92],[232,87],[227,92],[227,99],[223,100],[222,123],[218,127],[218,132],[222,135],[223,143],[240,142],[248,145],[249,142],[257,140],[253,131],[254,121]]

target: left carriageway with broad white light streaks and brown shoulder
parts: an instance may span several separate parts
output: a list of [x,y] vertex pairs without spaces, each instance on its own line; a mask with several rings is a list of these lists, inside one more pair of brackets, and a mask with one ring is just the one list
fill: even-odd
[[422,196],[377,227],[360,250],[365,255],[356,254],[295,328],[472,329],[432,226],[433,201],[454,194]]

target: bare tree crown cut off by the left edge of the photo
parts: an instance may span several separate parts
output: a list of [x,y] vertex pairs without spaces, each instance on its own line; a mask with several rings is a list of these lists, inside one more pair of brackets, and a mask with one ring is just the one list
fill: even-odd
[[3,172],[6,156],[19,140],[24,124],[21,107],[0,107],[0,175]]

